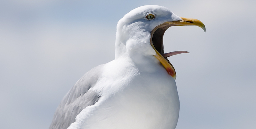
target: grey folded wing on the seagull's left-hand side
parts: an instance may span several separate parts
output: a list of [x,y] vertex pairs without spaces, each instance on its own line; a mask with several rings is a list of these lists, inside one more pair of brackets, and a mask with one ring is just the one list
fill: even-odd
[[97,83],[102,66],[99,65],[85,73],[68,91],[55,111],[49,129],[67,129],[71,123],[75,122],[77,114],[98,101],[100,96],[94,91],[88,90]]

